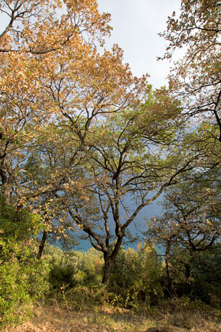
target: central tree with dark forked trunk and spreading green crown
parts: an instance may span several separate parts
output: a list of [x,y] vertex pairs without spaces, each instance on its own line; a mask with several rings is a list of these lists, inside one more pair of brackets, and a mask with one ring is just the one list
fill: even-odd
[[177,100],[162,89],[148,91],[138,109],[101,119],[85,141],[87,164],[81,181],[70,176],[57,192],[56,205],[63,206],[92,246],[103,252],[104,284],[109,284],[119,249],[140,210],[172,185],[177,174],[193,167],[189,156],[180,162],[176,155],[181,149],[175,138],[179,111]]

